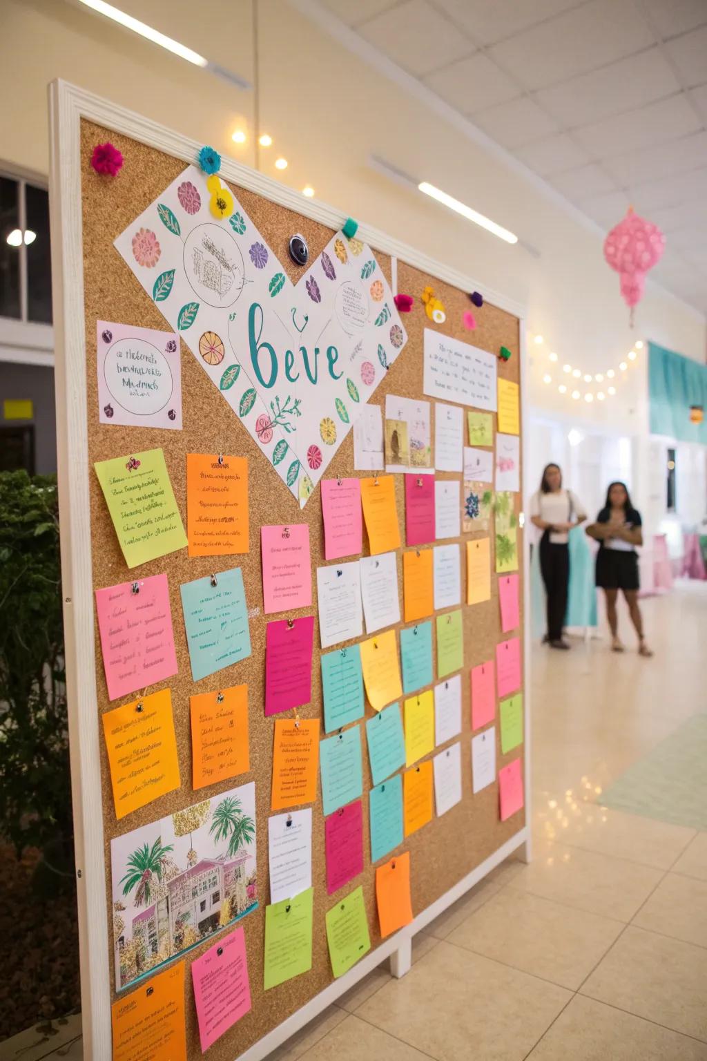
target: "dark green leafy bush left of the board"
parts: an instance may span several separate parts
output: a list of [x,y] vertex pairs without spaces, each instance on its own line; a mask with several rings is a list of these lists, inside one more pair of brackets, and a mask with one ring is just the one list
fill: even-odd
[[66,863],[72,832],[56,476],[0,472],[0,834]]

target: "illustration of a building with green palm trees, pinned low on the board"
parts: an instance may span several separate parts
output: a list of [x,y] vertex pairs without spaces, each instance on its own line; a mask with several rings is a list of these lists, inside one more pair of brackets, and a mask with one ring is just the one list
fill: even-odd
[[116,990],[258,907],[255,785],[110,841]]

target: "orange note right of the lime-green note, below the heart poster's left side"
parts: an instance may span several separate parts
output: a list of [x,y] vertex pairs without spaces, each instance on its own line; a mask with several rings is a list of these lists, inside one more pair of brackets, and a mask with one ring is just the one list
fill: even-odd
[[248,552],[248,458],[187,454],[190,556]]

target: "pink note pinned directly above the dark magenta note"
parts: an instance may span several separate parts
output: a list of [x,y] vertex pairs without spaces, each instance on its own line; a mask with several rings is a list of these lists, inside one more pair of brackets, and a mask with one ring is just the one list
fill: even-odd
[[312,604],[310,527],[261,527],[264,611],[308,608]]

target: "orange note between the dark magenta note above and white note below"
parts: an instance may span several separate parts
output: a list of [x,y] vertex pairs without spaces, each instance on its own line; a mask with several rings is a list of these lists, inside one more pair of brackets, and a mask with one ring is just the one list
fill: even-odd
[[275,724],[271,810],[314,803],[319,767],[319,719],[279,718]]

